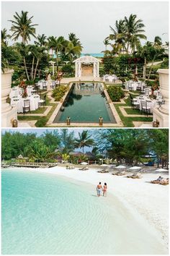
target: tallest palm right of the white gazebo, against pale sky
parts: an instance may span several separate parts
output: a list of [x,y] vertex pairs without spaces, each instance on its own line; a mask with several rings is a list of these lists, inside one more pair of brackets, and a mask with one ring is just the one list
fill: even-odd
[[134,48],[134,42],[137,41],[137,39],[146,39],[146,35],[143,35],[145,30],[143,27],[145,25],[142,23],[143,20],[137,20],[136,14],[130,14],[130,17],[125,17],[125,43],[126,43],[126,51],[129,53],[129,48]]

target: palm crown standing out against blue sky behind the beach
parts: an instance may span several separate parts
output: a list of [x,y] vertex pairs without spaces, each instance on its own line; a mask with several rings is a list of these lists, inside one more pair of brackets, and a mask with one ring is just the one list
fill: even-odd
[[84,147],[90,148],[93,146],[94,140],[91,139],[91,135],[88,135],[88,131],[84,130],[82,133],[79,132],[79,139],[76,139],[75,148],[82,148],[84,153]]

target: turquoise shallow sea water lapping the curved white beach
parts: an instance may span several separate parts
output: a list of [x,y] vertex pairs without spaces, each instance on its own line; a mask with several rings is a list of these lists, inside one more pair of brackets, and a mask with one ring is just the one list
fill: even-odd
[[147,226],[91,185],[14,169],[1,182],[3,254],[164,253]]

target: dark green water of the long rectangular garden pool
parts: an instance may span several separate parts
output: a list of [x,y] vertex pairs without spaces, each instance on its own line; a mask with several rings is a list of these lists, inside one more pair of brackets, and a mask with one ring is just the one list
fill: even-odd
[[101,116],[104,123],[116,123],[100,83],[73,84],[54,123],[65,122],[68,116],[73,122],[98,123]]

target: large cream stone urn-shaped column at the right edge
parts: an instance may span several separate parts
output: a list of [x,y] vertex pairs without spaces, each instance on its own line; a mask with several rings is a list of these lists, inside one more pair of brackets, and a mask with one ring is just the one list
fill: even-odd
[[153,121],[158,127],[169,127],[169,69],[158,69],[161,94],[165,103],[153,108]]

